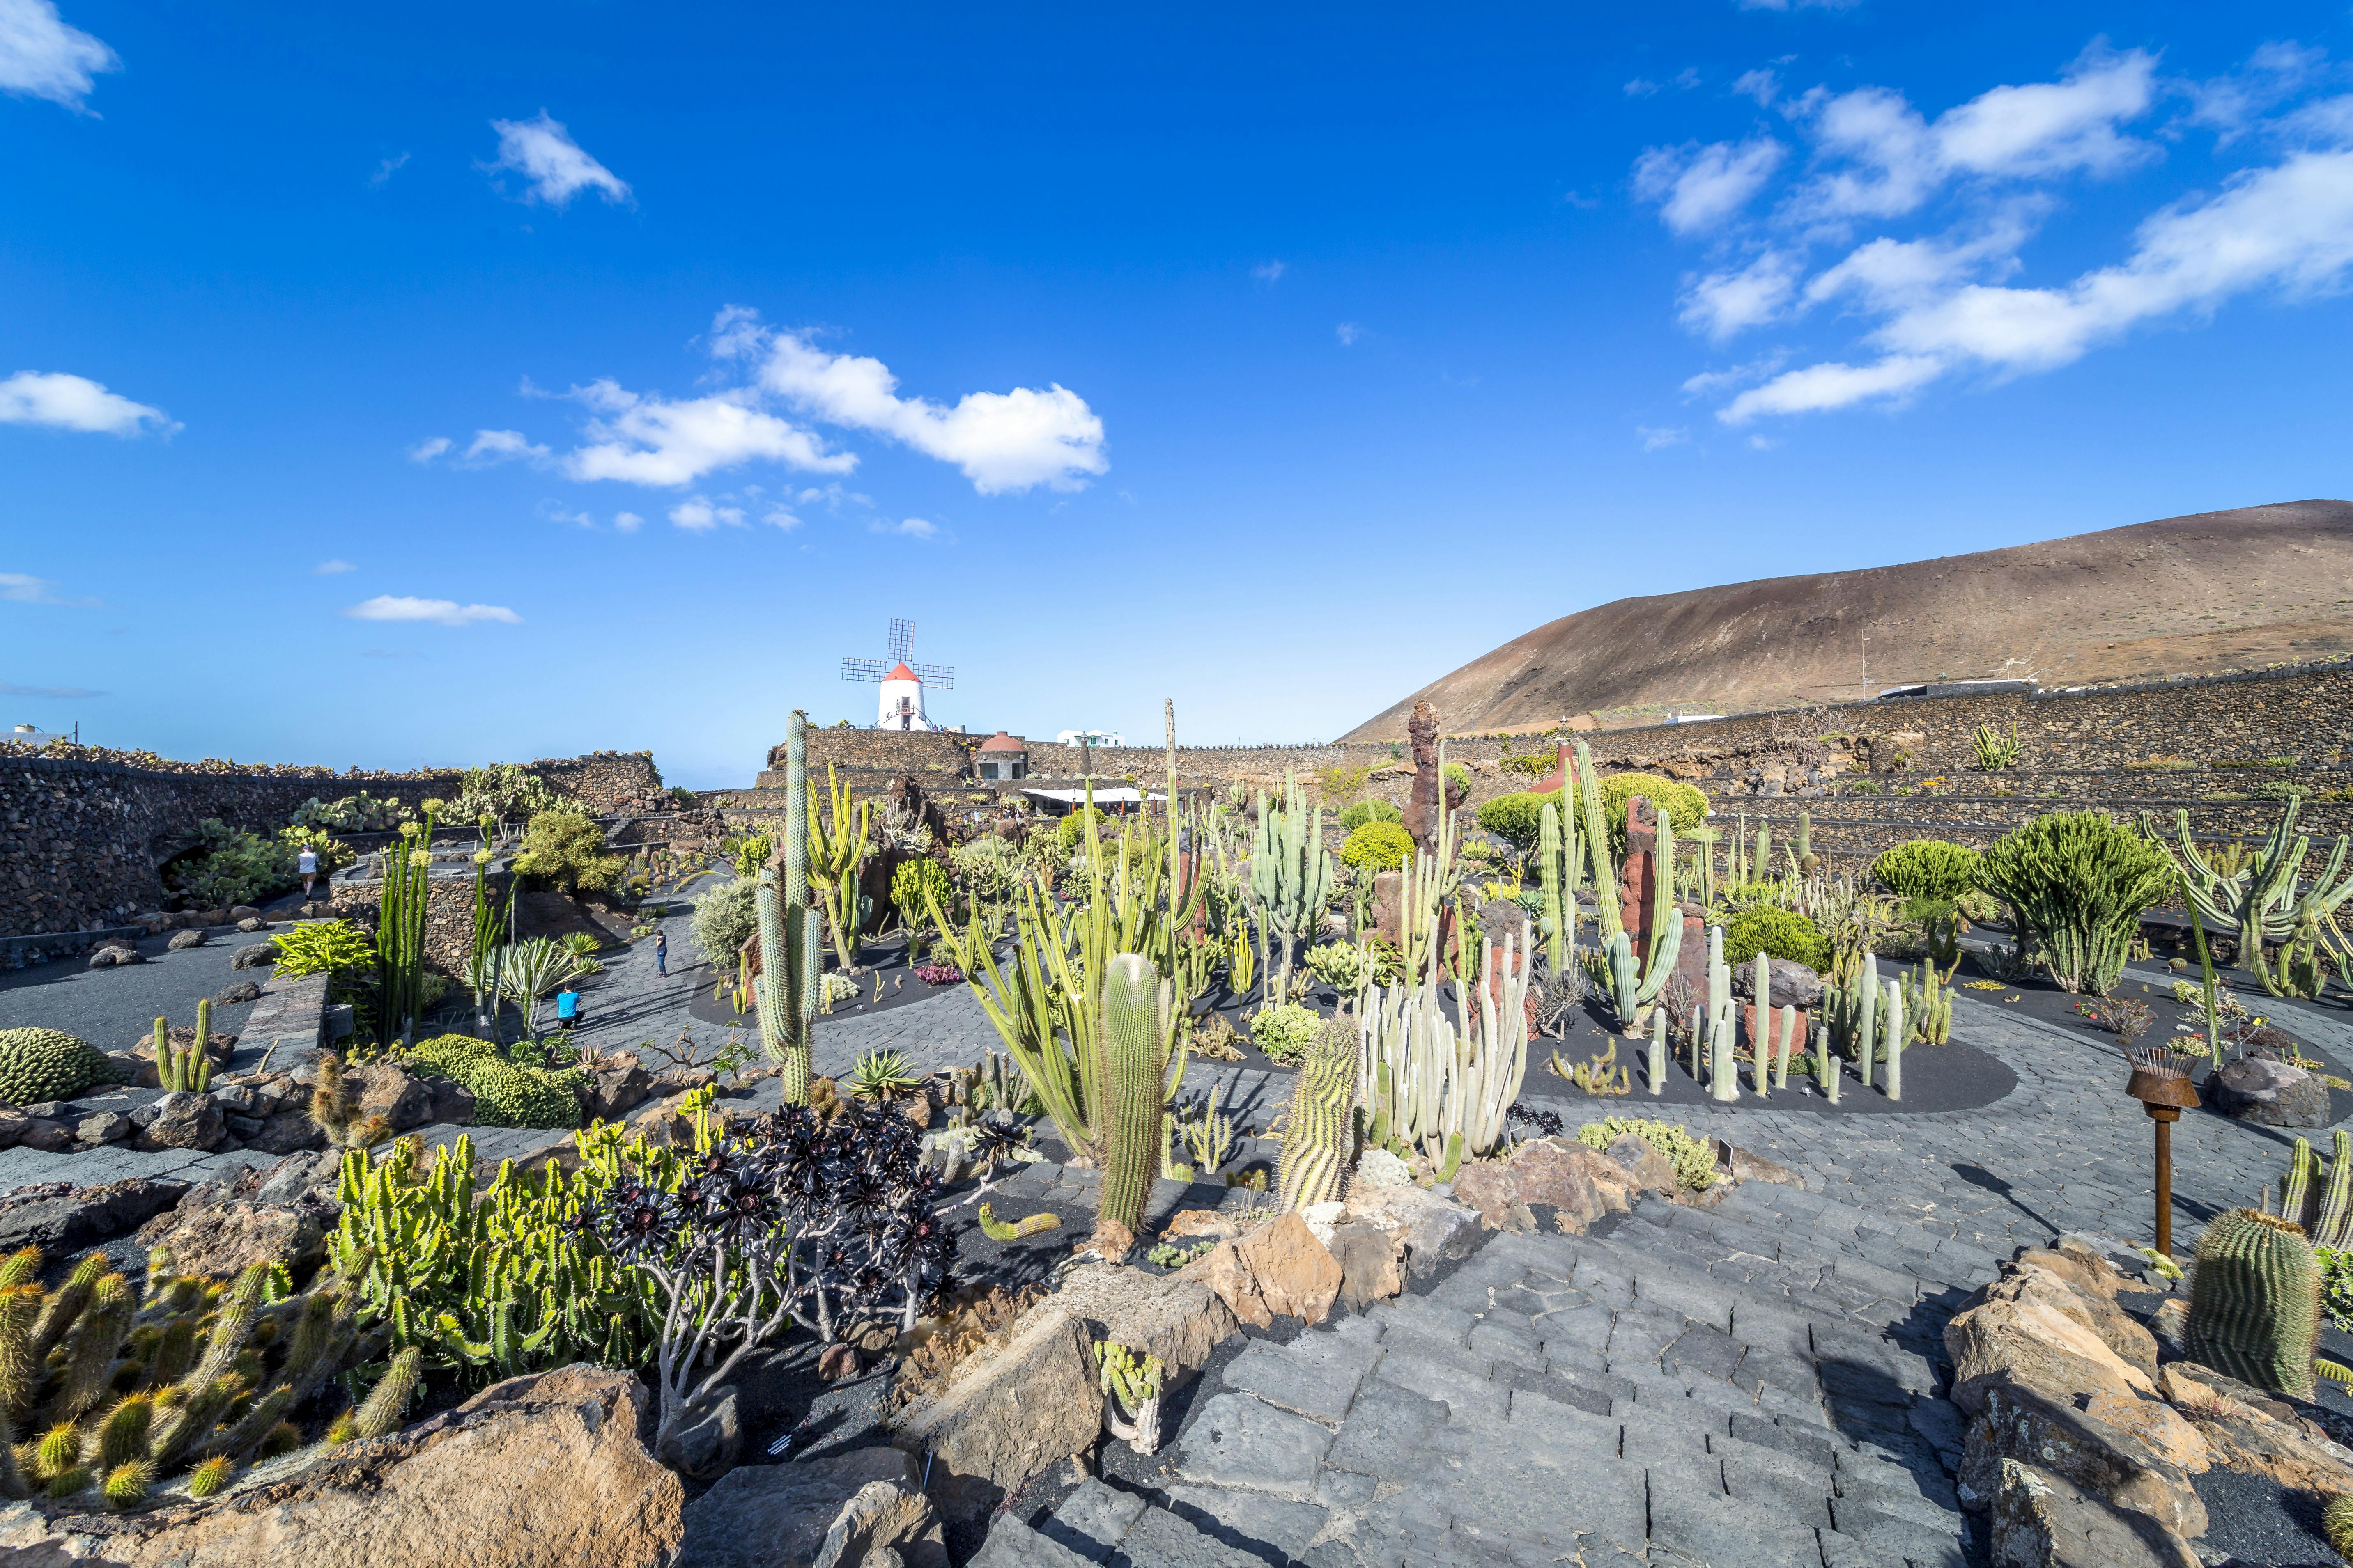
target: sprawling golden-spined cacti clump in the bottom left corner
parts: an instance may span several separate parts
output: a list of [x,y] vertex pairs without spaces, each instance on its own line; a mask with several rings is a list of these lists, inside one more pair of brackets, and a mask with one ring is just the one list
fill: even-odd
[[[148,1253],[146,1286],[85,1255],[56,1291],[38,1284],[40,1248],[0,1262],[0,1493],[54,1500],[94,1493],[115,1509],[148,1502],[167,1479],[191,1497],[219,1493],[256,1455],[304,1434],[289,1418],[327,1378],[384,1347],[355,1312],[348,1272],[296,1295],[280,1265],[235,1281],[172,1272]],[[329,1443],[384,1436],[416,1387],[416,1359],[395,1356]],[[40,1436],[16,1443],[28,1422]]]

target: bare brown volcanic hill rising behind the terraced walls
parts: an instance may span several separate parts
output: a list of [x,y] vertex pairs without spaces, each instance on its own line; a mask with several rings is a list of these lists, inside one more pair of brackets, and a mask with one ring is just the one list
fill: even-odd
[[[1866,649],[1868,637],[1868,649]],[[1614,599],[1473,658],[1344,741],[1395,741],[1417,698],[1452,733],[1567,715],[1751,712],[1929,679],[2047,686],[2353,649],[2353,503],[2289,501],[1946,555]]]

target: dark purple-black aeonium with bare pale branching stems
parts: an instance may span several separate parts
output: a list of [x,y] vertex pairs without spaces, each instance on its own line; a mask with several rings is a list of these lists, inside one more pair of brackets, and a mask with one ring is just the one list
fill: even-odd
[[824,1342],[861,1319],[906,1331],[953,1288],[939,1178],[922,1135],[887,1107],[847,1103],[821,1121],[786,1105],[689,1154],[616,1154],[614,1182],[579,1225],[666,1302],[656,1453],[786,1321]]

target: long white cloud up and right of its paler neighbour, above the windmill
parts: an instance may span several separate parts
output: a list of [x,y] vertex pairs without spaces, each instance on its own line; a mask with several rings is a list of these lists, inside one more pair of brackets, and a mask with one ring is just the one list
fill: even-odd
[[[765,331],[741,308],[720,313],[713,350],[722,357],[760,353],[762,390],[828,425],[873,430],[955,463],[984,496],[1038,484],[1080,489],[1087,475],[1111,468],[1104,421],[1064,386],[965,393],[955,407],[899,397],[899,378],[880,360],[833,355],[793,331]],[[831,473],[847,468],[847,461],[835,463]]]

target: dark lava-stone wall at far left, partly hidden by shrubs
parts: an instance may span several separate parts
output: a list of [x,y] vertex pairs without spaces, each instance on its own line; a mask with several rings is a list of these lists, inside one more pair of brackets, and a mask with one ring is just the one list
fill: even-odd
[[[666,811],[647,752],[529,764],[595,816]],[[205,818],[271,835],[311,799],[367,790],[409,806],[459,792],[459,773],[369,773],[278,764],[172,764],[144,752],[0,743],[0,938],[99,931],[165,900],[160,867]]]

